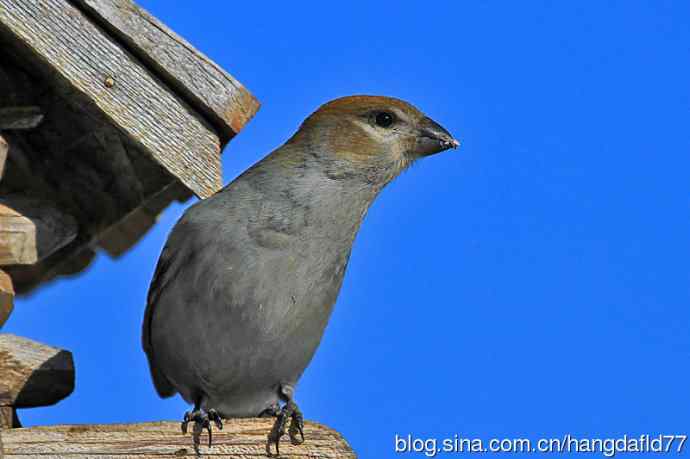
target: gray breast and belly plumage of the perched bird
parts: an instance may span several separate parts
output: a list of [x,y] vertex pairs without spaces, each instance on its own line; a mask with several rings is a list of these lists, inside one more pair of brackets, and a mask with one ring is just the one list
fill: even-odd
[[314,354],[373,190],[306,164],[291,172],[263,161],[172,231],[149,298],[165,309],[147,321],[152,367],[169,369],[155,377],[161,395],[256,416]]

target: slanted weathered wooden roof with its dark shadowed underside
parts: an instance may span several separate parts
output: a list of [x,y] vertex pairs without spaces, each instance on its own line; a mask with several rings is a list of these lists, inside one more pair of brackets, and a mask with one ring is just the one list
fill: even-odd
[[18,293],[221,186],[258,102],[129,0],[0,0],[0,265]]

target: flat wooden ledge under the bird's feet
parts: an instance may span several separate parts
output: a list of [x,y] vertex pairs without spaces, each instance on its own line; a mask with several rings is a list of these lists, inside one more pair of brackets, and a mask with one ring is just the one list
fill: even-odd
[[[230,419],[222,431],[213,432],[213,446],[201,441],[202,457],[233,459],[265,458],[266,434],[273,419]],[[154,459],[195,457],[190,435],[180,432],[179,422],[143,424],[64,425],[3,430],[6,459],[118,458]],[[281,458],[356,458],[336,431],[313,422],[304,427],[305,442],[280,444]]]

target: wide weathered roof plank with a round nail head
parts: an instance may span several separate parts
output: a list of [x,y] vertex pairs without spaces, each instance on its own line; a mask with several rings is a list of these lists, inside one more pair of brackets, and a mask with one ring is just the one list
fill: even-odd
[[220,188],[215,130],[67,0],[0,0],[0,33],[199,197]]

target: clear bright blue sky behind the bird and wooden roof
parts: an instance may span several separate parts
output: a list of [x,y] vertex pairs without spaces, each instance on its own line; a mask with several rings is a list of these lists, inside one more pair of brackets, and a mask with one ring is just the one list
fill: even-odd
[[[308,419],[363,458],[397,457],[396,434],[690,434],[689,3],[141,4],[263,104],[226,182],[348,94],[409,100],[462,141],[371,208],[298,388]],[[182,416],[139,343],[192,202],[17,301],[3,331],[77,367],[74,394],[26,425]]]

